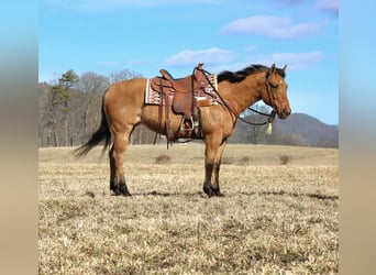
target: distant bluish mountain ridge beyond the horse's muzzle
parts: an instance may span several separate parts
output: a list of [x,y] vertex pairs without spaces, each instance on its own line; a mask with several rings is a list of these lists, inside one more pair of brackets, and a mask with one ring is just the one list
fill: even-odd
[[292,113],[286,120],[276,118],[274,127],[281,134],[302,138],[309,146],[338,147],[339,127],[329,125],[306,113]]

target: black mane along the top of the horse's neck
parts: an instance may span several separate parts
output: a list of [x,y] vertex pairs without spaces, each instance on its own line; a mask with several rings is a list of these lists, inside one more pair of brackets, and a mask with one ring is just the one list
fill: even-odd
[[[281,68],[276,68],[276,69],[277,69],[278,75],[280,75],[283,78],[285,78],[285,75],[286,75],[285,70],[283,70]],[[230,70],[221,72],[220,74],[218,74],[217,79],[218,79],[218,82],[228,80],[228,81],[234,84],[234,82],[240,82],[240,81],[244,80],[244,78],[247,77],[248,75],[253,75],[253,74],[256,74],[259,72],[269,72],[269,70],[270,70],[269,67],[256,64],[256,65],[251,65],[251,66],[243,68],[241,70],[237,70],[235,73],[230,72]]]

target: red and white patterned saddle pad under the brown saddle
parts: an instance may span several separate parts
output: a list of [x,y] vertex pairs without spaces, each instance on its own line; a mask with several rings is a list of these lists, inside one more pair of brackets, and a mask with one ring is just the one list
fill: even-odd
[[[215,90],[218,89],[217,74],[208,75],[209,80],[214,86]],[[198,106],[212,106],[218,105],[218,96],[215,90],[209,85],[204,89],[204,92],[199,91],[199,95],[196,95],[195,98],[198,102]],[[172,96],[174,94],[170,94]],[[145,105],[161,105],[161,94],[154,90],[151,86],[151,79],[146,80],[145,87]],[[163,100],[164,101],[164,100]],[[169,102],[173,102],[172,99]],[[164,102],[162,102],[164,105]]]

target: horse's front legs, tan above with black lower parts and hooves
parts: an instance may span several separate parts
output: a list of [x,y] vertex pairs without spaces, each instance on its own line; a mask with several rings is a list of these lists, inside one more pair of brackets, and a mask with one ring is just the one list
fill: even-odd
[[219,187],[219,172],[225,141],[215,145],[215,142],[207,140],[204,161],[203,191],[210,197],[222,196]]

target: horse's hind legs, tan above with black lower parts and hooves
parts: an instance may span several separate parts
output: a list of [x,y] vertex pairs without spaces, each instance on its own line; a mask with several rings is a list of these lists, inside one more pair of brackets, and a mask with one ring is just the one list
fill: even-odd
[[124,172],[123,172],[123,163],[124,155],[128,145],[128,139],[130,135],[130,131],[126,133],[114,133],[113,134],[113,144],[110,150],[110,189],[118,196],[131,196],[128,190]]

